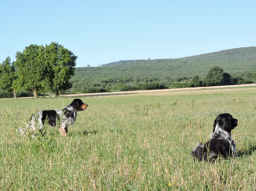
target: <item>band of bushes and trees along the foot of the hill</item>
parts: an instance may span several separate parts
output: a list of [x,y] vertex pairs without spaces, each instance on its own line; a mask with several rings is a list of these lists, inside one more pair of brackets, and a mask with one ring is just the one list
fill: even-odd
[[73,84],[73,93],[97,93],[111,91],[135,91],[151,89],[168,89],[168,88],[187,88],[187,87],[204,87],[204,86],[225,86],[235,84],[250,84],[256,80],[256,68],[253,73],[243,76],[231,76],[224,72],[219,66],[212,67],[206,76],[200,78],[199,75],[193,77],[173,76],[162,78],[157,77],[102,77],[102,78],[71,78]]

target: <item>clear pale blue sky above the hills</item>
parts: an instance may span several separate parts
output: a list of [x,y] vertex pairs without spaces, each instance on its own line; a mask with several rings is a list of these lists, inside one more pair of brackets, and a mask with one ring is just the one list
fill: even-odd
[[0,63],[56,42],[76,67],[256,46],[255,0],[2,0]]

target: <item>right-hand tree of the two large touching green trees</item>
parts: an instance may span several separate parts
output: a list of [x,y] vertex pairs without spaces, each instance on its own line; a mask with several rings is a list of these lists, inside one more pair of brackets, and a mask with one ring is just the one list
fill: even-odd
[[69,80],[75,75],[77,56],[62,45],[52,42],[45,45],[44,58],[48,66],[48,90],[59,95],[59,91],[71,88]]

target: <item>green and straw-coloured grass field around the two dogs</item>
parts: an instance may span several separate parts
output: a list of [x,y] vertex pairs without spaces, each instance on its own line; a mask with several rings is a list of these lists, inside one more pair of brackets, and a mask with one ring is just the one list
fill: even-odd
[[[0,190],[256,189],[255,87],[80,97],[89,106],[68,137],[16,133],[36,110],[73,99],[0,100]],[[238,119],[238,157],[194,161],[220,113]]]

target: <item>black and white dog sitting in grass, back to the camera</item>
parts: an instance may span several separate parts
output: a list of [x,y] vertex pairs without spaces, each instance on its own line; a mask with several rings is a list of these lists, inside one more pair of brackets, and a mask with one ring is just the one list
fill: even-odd
[[237,119],[233,118],[228,113],[223,113],[217,116],[213,124],[213,133],[210,135],[210,140],[204,145],[198,143],[192,151],[192,156],[199,161],[212,161],[219,157],[224,159],[232,156],[237,156],[235,142],[231,137],[231,130],[237,126]]

